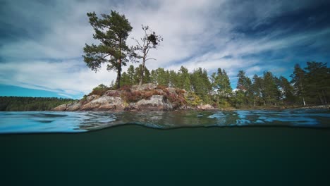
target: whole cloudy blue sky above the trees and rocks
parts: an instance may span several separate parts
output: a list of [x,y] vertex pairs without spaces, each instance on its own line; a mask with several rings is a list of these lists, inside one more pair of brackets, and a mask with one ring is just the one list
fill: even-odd
[[124,14],[128,45],[142,37],[141,25],[161,35],[149,70],[222,68],[235,88],[238,70],[291,80],[295,63],[329,62],[329,9],[322,0],[0,0],[0,96],[80,99],[110,85],[116,72],[94,73],[82,58],[85,43],[97,44],[87,12]]

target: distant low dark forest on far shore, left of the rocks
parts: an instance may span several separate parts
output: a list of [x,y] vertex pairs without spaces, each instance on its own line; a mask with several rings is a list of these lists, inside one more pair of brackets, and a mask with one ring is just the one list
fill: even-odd
[[0,97],[0,111],[50,111],[71,101],[56,97]]

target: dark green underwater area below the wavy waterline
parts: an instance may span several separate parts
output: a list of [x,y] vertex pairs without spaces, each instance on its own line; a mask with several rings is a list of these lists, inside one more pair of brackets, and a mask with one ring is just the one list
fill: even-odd
[[0,135],[1,185],[329,185],[330,130],[123,125]]

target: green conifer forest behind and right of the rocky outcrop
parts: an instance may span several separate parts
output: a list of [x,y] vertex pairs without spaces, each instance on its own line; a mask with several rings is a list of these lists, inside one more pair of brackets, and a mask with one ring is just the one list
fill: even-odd
[[[141,69],[141,65],[136,68],[129,66],[121,75],[121,85],[137,85]],[[202,68],[189,72],[184,66],[178,71],[164,68],[149,71],[144,68],[144,74],[145,83],[194,92],[204,104],[212,104],[216,108],[314,106],[328,104],[330,98],[330,68],[326,63],[314,61],[307,62],[305,68],[296,64],[291,80],[283,76],[276,77],[270,71],[250,78],[245,71],[240,70],[236,89],[232,89],[226,70],[221,68],[211,75]],[[100,86],[98,89],[116,87],[114,82],[111,82],[110,87]]]

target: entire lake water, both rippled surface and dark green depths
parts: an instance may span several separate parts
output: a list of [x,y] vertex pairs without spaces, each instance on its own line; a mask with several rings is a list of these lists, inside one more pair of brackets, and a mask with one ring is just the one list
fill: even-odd
[[329,120],[326,110],[3,112],[0,184],[328,185]]

